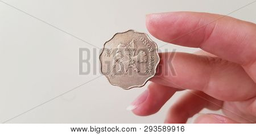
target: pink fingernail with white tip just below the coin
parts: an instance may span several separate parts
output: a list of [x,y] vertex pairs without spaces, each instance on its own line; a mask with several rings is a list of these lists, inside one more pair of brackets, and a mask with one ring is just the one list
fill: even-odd
[[145,90],[141,95],[138,96],[137,99],[135,99],[131,104],[130,106],[128,106],[126,109],[128,111],[131,111],[133,109],[136,109],[139,107],[139,105],[141,105],[146,99],[147,99],[147,96],[148,96],[148,90]]

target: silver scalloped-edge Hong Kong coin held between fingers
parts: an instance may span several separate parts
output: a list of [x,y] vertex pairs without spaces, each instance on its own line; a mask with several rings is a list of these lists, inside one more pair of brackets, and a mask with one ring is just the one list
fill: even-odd
[[142,87],[156,73],[157,45],[146,33],[129,30],[106,41],[100,55],[101,72],[114,86]]

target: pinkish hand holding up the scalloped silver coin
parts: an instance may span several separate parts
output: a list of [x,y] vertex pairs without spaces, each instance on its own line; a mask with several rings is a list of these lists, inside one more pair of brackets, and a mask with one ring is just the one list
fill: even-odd
[[152,115],[176,91],[187,90],[164,123],[186,123],[203,108],[222,109],[225,116],[201,114],[195,123],[256,122],[256,24],[203,12],[166,12],[147,15],[146,26],[159,40],[202,51],[175,53],[171,60],[171,52],[160,53],[151,84],[131,103],[135,115]]

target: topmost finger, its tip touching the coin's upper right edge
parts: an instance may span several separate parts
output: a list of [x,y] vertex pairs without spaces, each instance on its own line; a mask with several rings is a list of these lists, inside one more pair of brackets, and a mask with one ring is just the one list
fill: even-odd
[[167,43],[201,48],[242,65],[256,82],[256,25],[203,12],[167,12],[146,17],[148,31]]

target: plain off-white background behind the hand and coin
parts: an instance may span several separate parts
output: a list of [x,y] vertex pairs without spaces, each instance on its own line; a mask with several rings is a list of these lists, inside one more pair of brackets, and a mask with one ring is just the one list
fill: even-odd
[[[228,14],[252,0],[82,1],[4,0],[36,18],[102,48],[115,32],[147,32],[145,15],[152,12],[199,11]],[[256,3],[233,12],[234,18],[256,22]],[[150,37],[152,37],[150,35]],[[164,43],[152,37],[159,46]],[[79,75],[79,48],[93,47],[0,1],[0,122],[71,90],[100,74],[97,61],[89,75]],[[197,49],[166,45],[179,52]],[[96,75],[93,74],[96,70]],[[148,84],[148,83],[147,83]],[[103,76],[24,113],[7,123],[163,123],[178,92],[155,115],[135,116],[126,107],[146,87],[129,91]],[[210,112],[203,110],[203,112]],[[217,112],[220,113],[220,112]],[[191,123],[192,120],[189,120]]]

